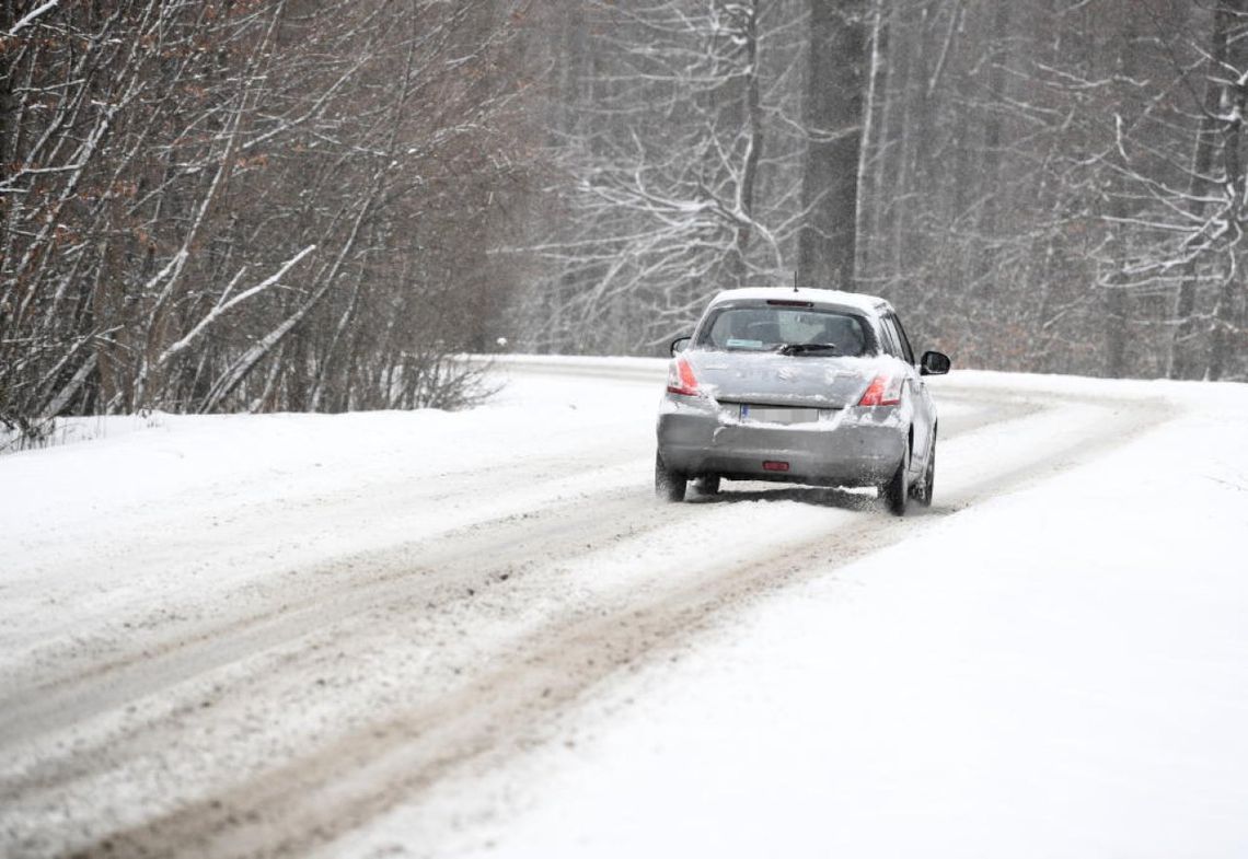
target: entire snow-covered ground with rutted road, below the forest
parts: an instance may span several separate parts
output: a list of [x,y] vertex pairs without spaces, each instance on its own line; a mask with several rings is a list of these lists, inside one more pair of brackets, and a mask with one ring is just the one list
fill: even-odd
[[0,855],[1248,854],[1244,386],[938,379],[896,520],[499,375],[0,458]]

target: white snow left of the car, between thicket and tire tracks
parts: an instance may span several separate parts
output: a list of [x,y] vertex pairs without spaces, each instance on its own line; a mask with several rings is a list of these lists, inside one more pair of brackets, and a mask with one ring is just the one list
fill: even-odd
[[[649,368],[661,380],[661,363]],[[0,679],[66,617],[106,622],[136,602],[225,592],[631,484],[649,463],[625,468],[636,426],[618,415],[653,421],[658,384],[519,378],[466,413],[71,421],[67,438],[95,440],[0,456]],[[490,471],[508,492],[436,515],[411,504]]]

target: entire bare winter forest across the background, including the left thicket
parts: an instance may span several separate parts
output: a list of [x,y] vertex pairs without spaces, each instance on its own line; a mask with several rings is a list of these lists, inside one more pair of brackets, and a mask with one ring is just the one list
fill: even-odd
[[0,429],[457,408],[738,286],[1248,380],[1248,0],[0,0]]

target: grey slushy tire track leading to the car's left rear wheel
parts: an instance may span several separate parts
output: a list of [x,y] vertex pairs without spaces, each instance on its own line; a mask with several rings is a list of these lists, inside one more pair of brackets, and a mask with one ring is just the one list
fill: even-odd
[[[349,622],[378,606],[423,600],[432,608],[462,598],[468,588],[484,588],[500,570],[514,572],[535,561],[557,561],[562,557],[559,546],[575,555],[585,541],[607,542],[622,530],[668,521],[653,505],[640,501],[636,490],[615,490],[595,497],[594,504],[553,505],[398,549],[337,559],[307,573],[313,587],[306,595],[283,596],[275,588],[278,592],[260,611],[163,641],[145,641],[140,651],[54,681],[9,687],[0,699],[0,743],[30,742],[310,631]],[[352,572],[348,581],[332,575],[342,570]],[[316,587],[316,580],[323,586]],[[0,780],[0,798],[5,793]]]

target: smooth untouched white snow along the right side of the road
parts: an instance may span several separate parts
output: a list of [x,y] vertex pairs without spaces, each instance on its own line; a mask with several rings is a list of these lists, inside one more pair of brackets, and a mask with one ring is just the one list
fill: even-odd
[[1176,416],[916,520],[331,853],[449,819],[433,855],[1248,855],[1248,389],[955,380]]

